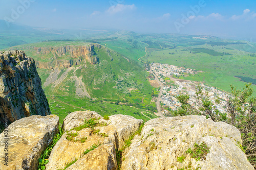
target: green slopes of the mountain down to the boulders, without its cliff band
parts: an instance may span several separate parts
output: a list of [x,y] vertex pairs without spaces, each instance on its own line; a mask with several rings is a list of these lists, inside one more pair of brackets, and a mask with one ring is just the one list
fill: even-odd
[[[81,60],[79,63],[74,63],[77,58],[68,52],[59,57],[54,53],[45,54],[35,50],[40,47],[48,51],[67,45],[73,50],[92,45],[91,58],[97,57],[98,63],[91,64],[82,56],[78,56]],[[27,56],[45,67],[57,60],[73,61],[69,68],[37,68],[51,111],[58,114],[61,120],[69,112],[83,109],[94,110],[101,115],[133,115],[145,120],[156,117],[152,114],[156,111],[155,103],[151,102],[153,87],[147,82],[147,72],[137,61],[127,59],[102,45],[79,41],[40,42],[11,49],[24,50]],[[140,113],[147,110],[151,113],[143,113],[147,117]]]

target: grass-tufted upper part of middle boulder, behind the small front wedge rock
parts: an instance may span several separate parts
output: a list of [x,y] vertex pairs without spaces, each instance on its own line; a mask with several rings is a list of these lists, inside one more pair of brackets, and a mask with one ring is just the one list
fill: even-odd
[[[83,124],[84,119],[88,120],[90,118],[96,118],[99,123],[106,123],[106,126],[98,126],[94,129],[108,136],[102,137],[94,134],[91,128],[84,128],[80,131],[72,130],[74,127]],[[74,138],[77,141],[68,140],[66,138],[67,132],[64,133],[53,148],[46,169],[63,169],[69,162],[75,159],[79,161],[79,158],[83,157],[83,152],[90,149],[93,144],[100,143],[104,145],[112,143],[115,149],[119,149],[124,144],[124,141],[139,129],[141,124],[142,120],[127,115],[113,115],[109,116],[109,120],[104,120],[102,116],[92,111],[70,113],[64,119],[62,128],[65,131],[69,130],[69,133],[77,132],[78,135]],[[87,140],[82,143],[80,139],[83,137],[87,137]]]

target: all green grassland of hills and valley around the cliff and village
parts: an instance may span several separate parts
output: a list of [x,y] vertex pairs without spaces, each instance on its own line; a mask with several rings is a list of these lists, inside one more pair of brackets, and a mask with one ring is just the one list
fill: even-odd
[[[225,91],[229,90],[230,84],[244,87],[245,82],[241,80],[250,82],[256,78],[256,44],[252,42],[222,40],[211,36],[137,34],[130,31],[105,32],[87,37],[87,39],[72,40],[76,38],[71,36],[70,39],[60,41],[50,39],[32,44],[25,44],[30,42],[26,40],[19,42],[24,43],[23,45],[11,47],[14,50],[24,50],[35,61],[52,61],[52,63],[55,60],[67,61],[74,58],[68,53],[61,57],[56,57],[54,54],[38,54],[34,47],[51,48],[99,43],[110,50],[106,52],[95,48],[93,57],[99,58],[98,64],[85,62],[73,65],[74,70],[68,72],[67,79],[61,84],[43,86],[51,111],[60,116],[60,122],[68,112],[82,109],[96,111],[101,115],[127,114],[148,120],[149,118],[140,112],[157,112],[156,105],[151,100],[152,96],[158,96],[159,90],[147,82],[146,77],[149,75],[143,66],[145,62],[159,62],[201,70],[203,72],[197,75],[186,75],[180,79],[204,82]],[[16,44],[12,43],[11,39],[8,43]],[[147,47],[147,55],[141,58],[146,54],[145,47]],[[142,62],[138,60],[139,58]],[[53,70],[38,68],[37,71],[44,84]],[[57,79],[60,79],[65,71],[67,68],[60,68]],[[74,76],[81,78],[93,100],[75,95],[75,81],[71,78]],[[173,82],[169,84],[174,85]],[[253,88],[256,95],[256,85],[253,85]],[[57,104],[62,107],[56,107]],[[144,114],[153,116],[149,113]]]

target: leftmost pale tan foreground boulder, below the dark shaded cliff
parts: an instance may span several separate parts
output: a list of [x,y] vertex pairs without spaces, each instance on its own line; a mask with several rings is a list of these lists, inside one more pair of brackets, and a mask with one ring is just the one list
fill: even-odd
[[[58,123],[59,117],[56,115],[33,115],[9,125],[8,152],[4,152],[5,143],[0,143],[0,169],[37,169],[41,152],[45,151],[58,132]],[[4,132],[0,138],[4,140]],[[8,153],[8,166],[3,161],[5,153]]]

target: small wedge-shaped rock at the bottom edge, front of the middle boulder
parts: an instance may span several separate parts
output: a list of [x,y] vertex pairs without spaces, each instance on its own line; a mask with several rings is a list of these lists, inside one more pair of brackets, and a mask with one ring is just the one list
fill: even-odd
[[100,145],[95,150],[81,157],[67,170],[116,170],[116,151],[113,143]]

